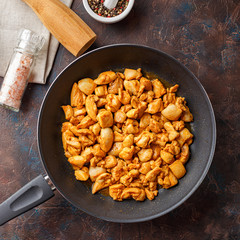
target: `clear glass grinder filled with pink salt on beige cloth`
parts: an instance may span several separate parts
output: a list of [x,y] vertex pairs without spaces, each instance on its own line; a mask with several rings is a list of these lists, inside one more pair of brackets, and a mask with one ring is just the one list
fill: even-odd
[[28,29],[22,29],[18,45],[8,65],[0,90],[0,105],[19,111],[36,57],[45,39]]

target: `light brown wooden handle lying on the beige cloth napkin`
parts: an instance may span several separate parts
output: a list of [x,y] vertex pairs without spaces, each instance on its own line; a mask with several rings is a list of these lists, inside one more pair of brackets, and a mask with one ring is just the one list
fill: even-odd
[[46,28],[73,55],[79,56],[95,41],[96,34],[59,0],[23,0]]

